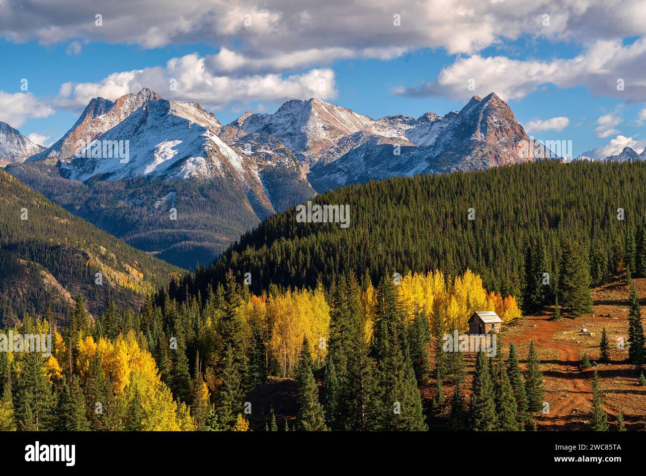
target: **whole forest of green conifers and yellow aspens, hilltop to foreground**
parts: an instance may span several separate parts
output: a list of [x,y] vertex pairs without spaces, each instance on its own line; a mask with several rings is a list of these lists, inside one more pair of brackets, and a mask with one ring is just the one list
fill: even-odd
[[[520,358],[513,343],[502,351],[504,334],[494,355],[446,351],[443,336],[475,310],[505,324],[521,309],[579,316],[590,286],[621,274],[641,369],[631,279],[646,272],[645,175],[645,164],[540,163],[326,193],[316,201],[349,202],[349,228],[286,211],[141,307],[90,315],[79,295],[62,322],[51,307],[23,314],[0,344],[48,334],[52,352],[0,352],[0,429],[535,429],[534,341]],[[278,384],[293,389],[293,418],[262,397]],[[590,429],[607,429],[594,385]]]

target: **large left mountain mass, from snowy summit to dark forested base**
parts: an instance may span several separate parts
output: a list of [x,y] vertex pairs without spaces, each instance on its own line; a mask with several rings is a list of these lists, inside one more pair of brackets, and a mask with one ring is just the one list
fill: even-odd
[[226,144],[220,129],[198,103],[150,89],[94,98],[52,147],[8,171],[132,246],[192,268],[315,195],[280,140]]

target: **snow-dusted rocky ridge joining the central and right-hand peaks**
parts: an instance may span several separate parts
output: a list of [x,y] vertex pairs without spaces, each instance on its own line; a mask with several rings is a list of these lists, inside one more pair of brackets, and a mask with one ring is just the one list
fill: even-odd
[[[226,126],[225,140],[250,132],[273,135],[306,166],[317,191],[415,173],[486,169],[550,158],[530,139],[510,107],[492,93],[461,111],[414,119],[373,120],[317,99],[289,101],[274,114],[245,113]],[[527,151],[532,149],[532,154]],[[538,152],[538,153],[537,153]]]

